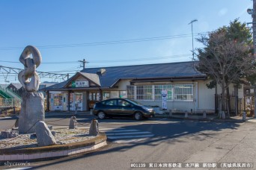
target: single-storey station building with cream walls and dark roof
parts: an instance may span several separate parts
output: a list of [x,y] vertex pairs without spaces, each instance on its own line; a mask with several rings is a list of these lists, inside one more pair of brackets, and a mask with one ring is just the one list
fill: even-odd
[[[161,92],[167,90],[167,109],[177,112],[216,111],[220,88],[208,89],[207,75],[195,62],[157,63],[136,66],[86,68],[67,81],[48,86],[48,110],[87,111],[107,98],[130,98],[142,104],[162,107]],[[230,87],[231,94],[234,87]],[[243,98],[243,88],[238,90]]]

